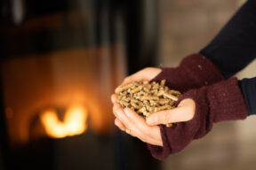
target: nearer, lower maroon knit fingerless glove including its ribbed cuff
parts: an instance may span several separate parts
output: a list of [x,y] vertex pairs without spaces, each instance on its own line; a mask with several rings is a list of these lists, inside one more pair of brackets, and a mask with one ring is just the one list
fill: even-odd
[[164,159],[183,150],[192,140],[206,135],[214,122],[243,120],[247,116],[247,107],[236,78],[191,89],[180,97],[177,105],[185,98],[192,98],[196,102],[194,118],[171,128],[160,126],[164,147],[148,144],[153,157]]

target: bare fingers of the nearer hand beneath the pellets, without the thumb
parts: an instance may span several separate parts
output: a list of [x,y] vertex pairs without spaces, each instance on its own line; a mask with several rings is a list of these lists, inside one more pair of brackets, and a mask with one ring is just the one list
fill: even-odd
[[116,103],[116,95],[112,95],[114,102],[113,112],[116,116],[115,124],[118,128],[126,133],[138,137],[145,143],[163,146],[160,128],[158,126],[148,126],[146,120],[132,109],[123,109],[120,104]]

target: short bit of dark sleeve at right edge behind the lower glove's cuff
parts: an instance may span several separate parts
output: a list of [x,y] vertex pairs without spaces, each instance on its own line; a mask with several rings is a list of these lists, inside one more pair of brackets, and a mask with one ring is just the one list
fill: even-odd
[[248,115],[256,114],[256,77],[238,81],[248,108]]

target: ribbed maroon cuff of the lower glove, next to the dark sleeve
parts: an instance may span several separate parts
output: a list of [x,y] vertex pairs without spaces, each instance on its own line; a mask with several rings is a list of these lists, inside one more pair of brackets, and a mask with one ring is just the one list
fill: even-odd
[[236,78],[210,86],[207,90],[207,98],[210,101],[213,122],[244,120],[248,115],[247,106]]

